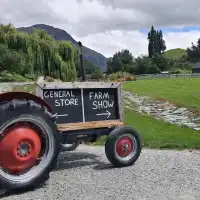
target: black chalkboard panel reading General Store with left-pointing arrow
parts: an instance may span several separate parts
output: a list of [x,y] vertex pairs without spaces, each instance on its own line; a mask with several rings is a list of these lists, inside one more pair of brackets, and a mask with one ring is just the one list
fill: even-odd
[[52,107],[56,123],[83,122],[81,89],[43,89],[43,99]]

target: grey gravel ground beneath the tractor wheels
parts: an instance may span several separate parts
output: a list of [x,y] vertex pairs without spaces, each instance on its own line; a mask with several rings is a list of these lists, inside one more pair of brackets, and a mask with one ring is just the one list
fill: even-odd
[[104,148],[81,145],[59,156],[47,185],[2,200],[199,200],[200,152],[144,149],[132,167],[115,169]]

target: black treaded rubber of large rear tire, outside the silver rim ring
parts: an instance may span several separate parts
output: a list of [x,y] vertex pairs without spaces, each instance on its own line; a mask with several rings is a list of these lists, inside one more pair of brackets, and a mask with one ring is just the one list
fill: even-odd
[[[33,112],[33,116],[34,114],[37,113],[42,115],[40,117],[47,119],[51,122],[51,124],[48,124],[49,127],[51,127],[51,129],[53,130],[52,133],[54,134],[54,139],[55,139],[55,152],[54,155],[51,159],[51,162],[49,163],[49,165],[46,167],[46,169],[44,170],[44,172],[37,178],[34,178],[34,181],[30,182],[29,184],[20,184],[20,185],[16,185],[13,183],[8,183],[8,181],[2,181],[2,178],[0,177],[0,188],[3,190],[6,190],[6,192],[9,192],[10,190],[16,190],[16,189],[28,189],[28,188],[37,188],[38,186],[42,185],[45,181],[48,180],[49,177],[49,173],[51,172],[51,170],[55,167],[55,163],[57,162],[57,157],[58,154],[60,152],[60,134],[57,131],[56,128],[56,123],[55,120],[53,118],[52,113],[50,113],[46,107],[43,107],[37,103],[35,103],[32,100],[17,100],[14,99],[12,101],[9,102],[3,102],[0,104],[0,127],[6,123],[8,121],[8,117],[6,117],[6,115],[9,113],[9,116],[12,115],[18,115],[18,114],[14,114],[15,112],[19,112],[19,116],[23,115],[23,114],[27,114],[27,113],[21,113],[20,110],[23,109],[27,109],[27,113],[31,114],[31,112]],[[13,114],[12,114],[13,113]],[[15,117],[16,117],[15,116]]]

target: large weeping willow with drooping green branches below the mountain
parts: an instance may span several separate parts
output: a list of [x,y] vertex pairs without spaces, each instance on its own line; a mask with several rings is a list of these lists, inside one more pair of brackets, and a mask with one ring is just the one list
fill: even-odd
[[1,71],[72,81],[76,78],[76,53],[71,42],[55,41],[45,31],[28,34],[17,31],[11,24],[0,25]]

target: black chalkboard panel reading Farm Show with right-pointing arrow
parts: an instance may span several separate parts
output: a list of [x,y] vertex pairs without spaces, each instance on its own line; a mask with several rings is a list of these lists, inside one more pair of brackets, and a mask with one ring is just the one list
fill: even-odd
[[117,88],[83,89],[85,121],[119,119]]

